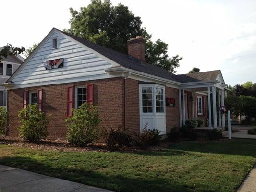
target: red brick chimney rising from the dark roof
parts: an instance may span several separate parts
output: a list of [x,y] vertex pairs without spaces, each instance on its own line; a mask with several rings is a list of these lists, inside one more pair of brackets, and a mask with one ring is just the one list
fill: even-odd
[[142,36],[136,36],[127,41],[128,55],[145,62],[145,39]]

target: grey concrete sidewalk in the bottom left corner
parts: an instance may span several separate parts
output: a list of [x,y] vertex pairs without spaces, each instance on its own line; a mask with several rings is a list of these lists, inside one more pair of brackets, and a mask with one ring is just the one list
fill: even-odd
[[0,165],[0,192],[111,192]]

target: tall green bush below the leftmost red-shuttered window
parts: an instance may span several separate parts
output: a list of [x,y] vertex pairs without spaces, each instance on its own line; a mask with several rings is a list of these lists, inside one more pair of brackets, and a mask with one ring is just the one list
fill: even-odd
[[28,105],[19,112],[18,116],[19,122],[22,123],[18,128],[21,138],[37,142],[48,136],[47,126],[51,115],[46,117],[43,112],[38,111],[37,105]]

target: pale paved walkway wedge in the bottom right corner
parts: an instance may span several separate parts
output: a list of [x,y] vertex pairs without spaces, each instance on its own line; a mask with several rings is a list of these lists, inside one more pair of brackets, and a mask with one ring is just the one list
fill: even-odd
[[237,192],[256,192],[256,165],[246,177]]

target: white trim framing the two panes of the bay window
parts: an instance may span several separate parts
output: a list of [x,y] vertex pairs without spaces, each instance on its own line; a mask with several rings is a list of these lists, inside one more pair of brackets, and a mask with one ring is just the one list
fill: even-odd
[[[142,110],[142,87],[152,87],[152,113],[143,113]],[[163,97],[164,97],[164,112],[163,113],[157,113],[156,112],[156,88],[162,88],[163,89]],[[165,86],[158,85],[158,84],[140,84],[139,87],[139,99],[140,99],[140,115],[165,115]]]

